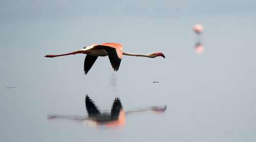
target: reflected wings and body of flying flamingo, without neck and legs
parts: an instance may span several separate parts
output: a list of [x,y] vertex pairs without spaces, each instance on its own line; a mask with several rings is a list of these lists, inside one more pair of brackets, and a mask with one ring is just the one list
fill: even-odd
[[97,124],[104,125],[123,125],[125,124],[125,117],[122,104],[119,98],[115,98],[111,113],[100,113],[92,100],[86,96],[86,109],[89,115],[89,120],[96,122]]

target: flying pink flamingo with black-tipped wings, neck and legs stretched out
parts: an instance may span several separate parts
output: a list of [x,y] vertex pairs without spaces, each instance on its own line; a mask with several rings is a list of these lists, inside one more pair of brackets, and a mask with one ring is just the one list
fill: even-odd
[[120,43],[110,43],[105,42],[102,44],[92,44],[89,46],[84,47],[81,50],[77,50],[71,53],[67,54],[60,54],[60,55],[46,55],[45,57],[58,57],[58,56],[66,56],[71,54],[87,54],[86,59],[84,60],[84,74],[87,74],[91,67],[93,66],[94,62],[98,58],[98,56],[109,56],[112,68],[114,68],[114,71],[117,71],[120,66],[120,62],[122,59],[122,55],[129,55],[129,56],[142,56],[142,57],[149,57],[149,58],[155,58],[157,56],[162,56],[165,58],[163,53],[161,52],[154,52],[150,54],[134,54],[134,53],[127,53],[122,51],[123,45]]

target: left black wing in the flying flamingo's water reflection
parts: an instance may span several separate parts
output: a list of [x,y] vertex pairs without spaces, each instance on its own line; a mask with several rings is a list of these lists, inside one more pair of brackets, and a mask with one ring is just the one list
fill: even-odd
[[100,115],[99,110],[94,105],[93,101],[86,95],[86,110],[89,115],[89,117],[95,117]]

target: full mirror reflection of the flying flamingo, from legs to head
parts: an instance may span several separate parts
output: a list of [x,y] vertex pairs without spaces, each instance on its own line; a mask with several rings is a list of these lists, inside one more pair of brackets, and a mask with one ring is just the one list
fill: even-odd
[[115,98],[111,112],[101,113],[88,95],[86,95],[85,101],[88,117],[77,115],[48,115],[48,119],[68,119],[77,122],[87,121],[94,126],[122,126],[125,125],[125,115],[148,110],[164,112],[167,108],[166,105],[162,107],[152,106],[124,112],[120,99]]

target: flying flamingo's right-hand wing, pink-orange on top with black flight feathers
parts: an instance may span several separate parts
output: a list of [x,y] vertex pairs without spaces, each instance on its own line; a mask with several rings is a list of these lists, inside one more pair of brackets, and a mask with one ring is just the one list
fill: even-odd
[[114,68],[115,71],[119,69],[121,59],[122,59],[121,49],[116,49],[107,45],[96,45],[94,47],[104,49],[106,52],[108,52],[108,56],[109,56],[112,68]]

